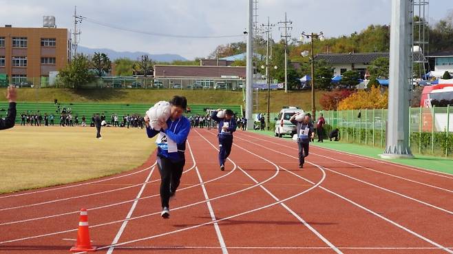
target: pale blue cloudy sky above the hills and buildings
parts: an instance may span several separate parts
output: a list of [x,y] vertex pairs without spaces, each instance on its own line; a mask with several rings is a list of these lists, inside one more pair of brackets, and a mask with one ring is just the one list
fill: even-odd
[[[323,31],[326,36],[359,32],[370,24],[390,23],[391,0],[259,0],[259,22],[293,21],[292,36],[302,31]],[[246,28],[247,0],[0,0],[0,17],[15,27],[40,27],[44,15],[56,17],[59,28],[72,28],[74,4],[79,14],[124,28],[189,36],[242,34]],[[430,1],[430,21],[453,11],[452,0]],[[219,44],[244,40],[176,39],[136,34],[83,21],[81,45],[117,51],[180,54],[187,59],[207,56]],[[280,31],[275,28],[273,37]]]

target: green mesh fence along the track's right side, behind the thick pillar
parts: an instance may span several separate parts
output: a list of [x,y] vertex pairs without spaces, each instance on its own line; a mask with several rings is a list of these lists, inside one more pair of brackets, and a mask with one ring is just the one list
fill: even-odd
[[[410,108],[409,145],[413,153],[453,156],[452,107]],[[339,129],[341,142],[386,146],[387,109],[319,111],[324,114],[326,134]],[[389,130],[390,131],[390,130]]]

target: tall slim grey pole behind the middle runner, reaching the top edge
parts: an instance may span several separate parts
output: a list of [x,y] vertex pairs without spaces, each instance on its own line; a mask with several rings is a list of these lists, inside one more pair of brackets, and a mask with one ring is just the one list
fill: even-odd
[[253,0],[249,0],[248,16],[245,117],[247,118],[247,129],[253,129]]

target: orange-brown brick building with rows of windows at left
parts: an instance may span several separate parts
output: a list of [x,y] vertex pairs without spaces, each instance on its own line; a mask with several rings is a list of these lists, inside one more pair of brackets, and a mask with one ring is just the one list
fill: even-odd
[[70,52],[65,28],[0,28],[0,74],[12,84],[41,85],[68,63]]

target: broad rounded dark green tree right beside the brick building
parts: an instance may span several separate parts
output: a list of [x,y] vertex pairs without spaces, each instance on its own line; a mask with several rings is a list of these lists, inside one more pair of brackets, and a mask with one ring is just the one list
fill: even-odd
[[89,60],[83,54],[77,54],[74,59],[59,71],[59,78],[64,85],[78,89],[94,80],[94,75],[89,72]]

